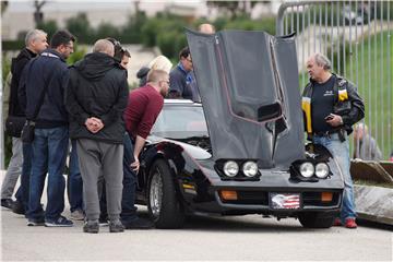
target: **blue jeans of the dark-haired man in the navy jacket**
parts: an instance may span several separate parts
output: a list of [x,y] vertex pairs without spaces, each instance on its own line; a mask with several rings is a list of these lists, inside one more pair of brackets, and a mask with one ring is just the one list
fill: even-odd
[[57,219],[64,210],[63,171],[69,143],[68,126],[36,129],[34,134],[27,218],[44,218],[40,199],[48,170],[45,219]]

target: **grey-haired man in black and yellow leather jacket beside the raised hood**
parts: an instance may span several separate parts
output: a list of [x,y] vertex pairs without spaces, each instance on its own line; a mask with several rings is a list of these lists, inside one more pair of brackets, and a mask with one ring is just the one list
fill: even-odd
[[331,73],[331,62],[314,53],[307,61],[310,82],[305,87],[301,107],[308,139],[325,146],[337,159],[344,178],[344,195],[334,225],[356,228],[354,187],[349,172],[352,126],[365,117],[365,105],[356,86],[341,75]]

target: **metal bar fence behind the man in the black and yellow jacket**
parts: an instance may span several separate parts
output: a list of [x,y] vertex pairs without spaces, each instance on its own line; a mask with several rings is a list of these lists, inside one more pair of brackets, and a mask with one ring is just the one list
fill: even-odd
[[[276,24],[276,35],[296,32],[301,87],[308,82],[306,60],[314,52],[326,55],[333,71],[358,86],[362,121],[383,159],[393,151],[392,14],[391,1],[291,1],[279,7]],[[353,152],[352,139],[350,146]]]

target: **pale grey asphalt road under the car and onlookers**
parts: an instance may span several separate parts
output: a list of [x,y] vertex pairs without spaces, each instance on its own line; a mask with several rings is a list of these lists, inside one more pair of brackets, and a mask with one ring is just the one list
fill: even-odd
[[[63,214],[70,216],[69,206]],[[140,214],[147,216],[144,206]],[[121,234],[108,227],[84,234],[82,224],[27,227],[23,216],[1,207],[1,261],[393,261],[391,228],[314,230],[260,215],[191,217],[182,229]]]

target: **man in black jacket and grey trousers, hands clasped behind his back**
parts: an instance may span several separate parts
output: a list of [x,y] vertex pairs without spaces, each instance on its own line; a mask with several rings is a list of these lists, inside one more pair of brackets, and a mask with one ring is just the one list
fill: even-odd
[[85,233],[98,233],[99,201],[97,181],[105,178],[109,231],[123,231],[120,222],[124,123],[128,102],[126,70],[114,59],[114,45],[95,43],[93,53],[70,69],[66,105],[70,114],[70,135],[76,139],[83,179]]

